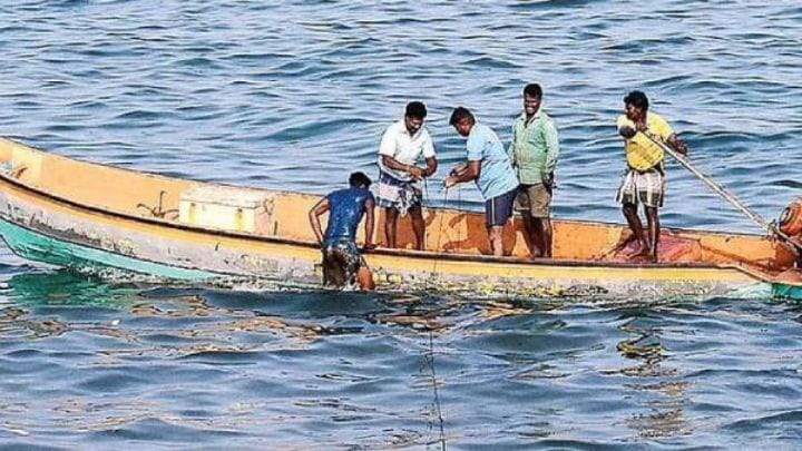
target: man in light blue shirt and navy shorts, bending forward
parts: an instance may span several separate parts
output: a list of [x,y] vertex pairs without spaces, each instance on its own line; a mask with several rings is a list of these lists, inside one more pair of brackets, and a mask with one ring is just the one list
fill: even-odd
[[509,156],[498,135],[490,127],[477,122],[467,108],[456,108],[449,124],[460,136],[468,138],[466,144],[468,158],[446,177],[446,188],[476,180],[485,197],[485,224],[490,251],[496,256],[502,256],[503,227],[512,216],[512,203],[518,192],[518,179]]

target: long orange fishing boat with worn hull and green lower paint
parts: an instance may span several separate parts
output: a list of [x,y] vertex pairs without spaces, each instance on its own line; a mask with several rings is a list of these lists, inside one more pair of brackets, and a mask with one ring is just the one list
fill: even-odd
[[[0,138],[0,235],[16,254],[52,265],[319,286],[321,253],[307,224],[319,199],[87,163]],[[793,252],[767,236],[674,228],[662,233],[658,263],[632,261],[627,227],[581,220],[555,220],[554,258],[531,259],[519,218],[503,237],[509,255],[495,257],[482,214],[427,208],[424,218],[427,251],[412,249],[412,232],[400,224],[400,248],[379,239],[365,254],[378,290],[712,296],[771,284],[794,265]]]

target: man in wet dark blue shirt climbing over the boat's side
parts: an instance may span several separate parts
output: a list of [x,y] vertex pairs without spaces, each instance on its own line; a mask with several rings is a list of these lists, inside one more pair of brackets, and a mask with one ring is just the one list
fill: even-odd
[[[359,276],[362,290],[372,290],[372,278],[366,264],[356,247],[356,228],[365,217],[365,249],[373,245],[373,194],[368,189],[371,179],[363,173],[349,177],[349,188],[330,193],[309,213],[310,224],[323,252],[323,285],[355,287]],[[320,216],[329,212],[325,235],[321,229]]]

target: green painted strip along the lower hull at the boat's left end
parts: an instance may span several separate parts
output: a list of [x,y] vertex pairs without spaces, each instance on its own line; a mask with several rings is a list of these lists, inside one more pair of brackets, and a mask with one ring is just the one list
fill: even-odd
[[0,219],[0,235],[19,256],[56,266],[76,268],[119,268],[160,278],[204,281],[221,274],[147,262],[113,252],[51,238],[40,233]]

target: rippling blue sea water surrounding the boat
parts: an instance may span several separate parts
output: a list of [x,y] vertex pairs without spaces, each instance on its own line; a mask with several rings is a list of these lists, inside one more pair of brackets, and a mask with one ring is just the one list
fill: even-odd
[[[555,215],[623,222],[623,97],[646,91],[705,174],[766,218],[802,195],[798,1],[0,4],[0,135],[198,180],[324,194],[375,177],[424,100],[509,143],[537,81]],[[664,226],[759,233],[669,161]],[[98,278],[0,248],[6,449],[799,449],[802,307],[480,300]]]

